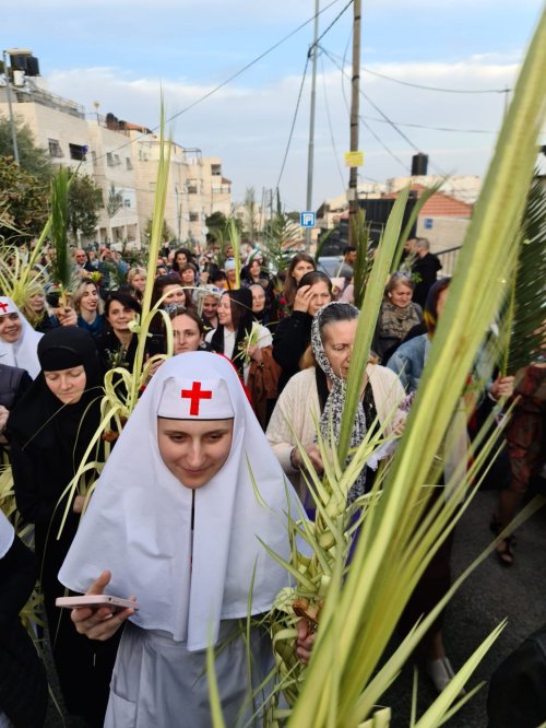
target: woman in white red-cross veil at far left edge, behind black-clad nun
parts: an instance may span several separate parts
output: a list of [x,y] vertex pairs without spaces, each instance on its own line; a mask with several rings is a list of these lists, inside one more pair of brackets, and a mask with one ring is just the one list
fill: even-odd
[[0,364],[26,369],[36,379],[41,369],[37,351],[43,336],[33,329],[11,298],[0,296]]

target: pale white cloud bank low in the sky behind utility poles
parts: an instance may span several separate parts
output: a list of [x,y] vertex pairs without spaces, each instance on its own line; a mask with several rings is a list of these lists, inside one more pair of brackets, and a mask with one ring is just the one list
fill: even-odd
[[[455,63],[375,63],[369,68],[412,83],[477,91],[491,84],[499,89],[506,83],[512,84],[518,67],[474,56]],[[118,118],[151,128],[157,125],[159,84],[142,74],[111,66],[92,67],[56,71],[48,81],[52,93],[82,103],[92,113],[93,102],[98,101],[100,114],[112,111]],[[210,94],[214,85],[199,84],[180,74],[180,78],[166,78],[162,89],[167,115],[176,116],[171,122],[175,140],[201,149],[204,156],[221,156],[224,175],[234,181],[235,197],[242,198],[246,187],[275,186],[300,83],[301,78],[296,74],[286,74],[263,85],[242,86],[236,81],[182,114],[178,113]],[[339,69],[327,66],[324,77],[319,77],[317,84],[314,207],[341,191],[336,158],[343,174],[346,173],[343,153],[348,149],[348,111],[343,87],[348,93],[348,83]],[[496,130],[503,113],[501,94],[440,94],[366,73],[363,90],[396,122]],[[281,183],[282,193],[298,208],[302,208],[305,200],[308,99],[307,84]],[[378,111],[365,99],[361,99],[360,113],[379,118]],[[472,137],[401,127],[410,139],[407,142],[389,124],[368,124],[406,168],[411,166],[412,154],[422,150],[429,154],[432,172],[436,166],[458,174],[483,174],[495,143],[495,134]],[[367,161],[360,171],[363,176],[384,179],[404,174],[404,166],[390,156],[367,129],[361,128],[360,134]]]

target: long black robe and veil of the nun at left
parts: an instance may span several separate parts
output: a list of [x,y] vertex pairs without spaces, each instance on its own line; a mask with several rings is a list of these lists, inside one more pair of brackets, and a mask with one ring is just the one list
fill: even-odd
[[[35,524],[49,637],[67,709],[98,727],[108,701],[117,641],[97,645],[78,634],[70,612],[56,608],[55,599],[66,591],[57,574],[80,521],[80,515],[70,508],[57,539],[66,508],[66,500],[59,504],[59,498],[100,421],[100,369],[91,334],[76,327],[47,332],[39,342],[38,359],[41,371],[8,425],[15,498],[24,520]],[[63,406],[47,386],[44,371],[80,365],[85,369],[85,391],[80,401]]]

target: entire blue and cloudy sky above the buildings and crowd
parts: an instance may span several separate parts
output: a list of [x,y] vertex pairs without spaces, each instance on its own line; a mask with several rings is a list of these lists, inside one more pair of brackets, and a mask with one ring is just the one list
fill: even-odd
[[[0,42],[32,49],[48,90],[90,118],[98,103],[155,128],[163,93],[174,140],[222,157],[234,201],[278,186],[305,210],[316,1],[25,0],[2,11]],[[542,1],[361,5],[359,179],[408,175],[419,151],[430,174],[483,176]],[[319,8],[312,209],[348,185],[353,5]]]

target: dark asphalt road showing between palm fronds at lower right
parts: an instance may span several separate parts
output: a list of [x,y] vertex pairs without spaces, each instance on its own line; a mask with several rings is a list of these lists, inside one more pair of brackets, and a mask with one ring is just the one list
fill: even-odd
[[[491,541],[489,517],[495,509],[497,493],[484,491],[476,495],[455,532],[452,567],[456,576],[472,563]],[[468,683],[487,681],[496,667],[532,632],[546,622],[546,508],[535,514],[518,531],[514,564],[506,568],[491,554],[463,584],[448,607],[444,621],[447,654],[455,669],[461,667],[482,641],[505,618],[508,624],[487,653]],[[55,688],[55,678],[52,678]],[[410,725],[413,667],[407,665],[394,685],[384,695],[383,705],[392,708],[391,728]],[[418,682],[417,715],[422,715],[435,697],[426,677]],[[474,696],[448,725],[450,728],[486,728],[487,685]],[[83,728],[78,719],[61,719],[50,706],[46,728]],[[176,728],[158,726],[157,728]],[[514,726],[514,728],[517,728]]]

